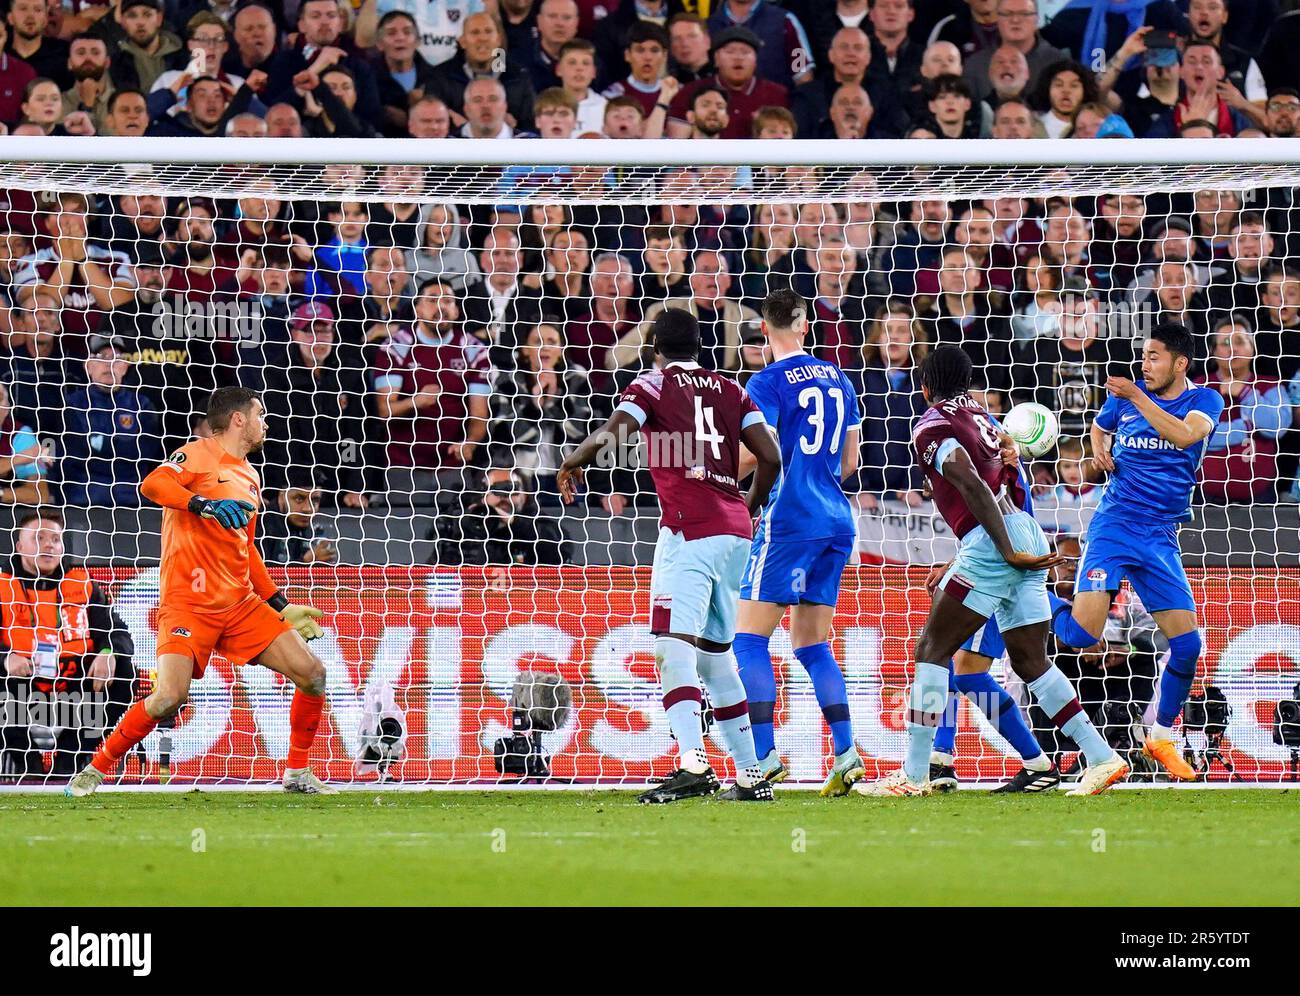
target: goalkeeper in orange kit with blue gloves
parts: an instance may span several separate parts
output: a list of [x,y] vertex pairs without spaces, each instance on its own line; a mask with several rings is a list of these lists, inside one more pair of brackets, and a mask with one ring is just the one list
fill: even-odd
[[69,796],[91,794],[159,720],[179,711],[213,650],[296,685],[285,791],[337,792],[307,766],[325,703],[325,664],[304,641],[322,635],[322,614],[280,593],[254,544],[261,482],[247,458],[266,438],[261,399],[246,387],[221,387],[208,403],[208,425],[211,438],[182,446],[140,484],[165,510],[153,693],[122,716],[68,784]]

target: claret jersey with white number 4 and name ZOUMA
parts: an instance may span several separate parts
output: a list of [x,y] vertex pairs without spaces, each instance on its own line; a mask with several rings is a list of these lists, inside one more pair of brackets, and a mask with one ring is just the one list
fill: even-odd
[[679,360],[637,377],[619,411],[645,436],[660,525],[686,540],[753,536],[736,475],[741,429],[763,415],[740,385]]

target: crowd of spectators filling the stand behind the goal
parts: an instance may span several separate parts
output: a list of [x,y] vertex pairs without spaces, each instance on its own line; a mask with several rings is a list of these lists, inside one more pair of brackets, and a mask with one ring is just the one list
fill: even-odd
[[[538,137],[1290,138],[1300,122],[1300,12],[1275,0],[5,7],[10,135],[516,138],[528,163]],[[521,208],[428,203],[421,170],[387,166],[391,200],[332,200],[352,169],[324,169],[312,202],[0,190],[0,501],[138,505],[140,476],[207,430],[207,394],[238,382],[264,391],[283,559],[317,555],[300,533],[321,503],[402,501],[439,505],[447,558],[560,562],[555,471],[649,361],[649,322],[689,308],[701,361],[744,380],[780,286],[858,381],[863,510],[924,501],[915,371],[942,342],[976,359],[991,410],[1061,413],[1040,498],[1095,503],[1087,421],[1158,320],[1201,337],[1197,378],[1228,399],[1202,498],[1300,501],[1288,189]],[[589,484],[611,515],[654,501],[632,471]]]

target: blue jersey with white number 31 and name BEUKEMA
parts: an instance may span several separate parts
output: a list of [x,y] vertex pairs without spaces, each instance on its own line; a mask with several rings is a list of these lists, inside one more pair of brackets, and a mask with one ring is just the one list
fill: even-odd
[[763,510],[767,534],[855,536],[853,508],[840,486],[845,436],[862,421],[849,378],[833,363],[796,354],[764,367],[745,389],[781,446],[781,476]]

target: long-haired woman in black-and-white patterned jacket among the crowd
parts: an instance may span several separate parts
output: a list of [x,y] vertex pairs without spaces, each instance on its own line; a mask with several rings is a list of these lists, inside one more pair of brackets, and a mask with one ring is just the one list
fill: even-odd
[[[592,426],[586,371],[566,358],[560,326],[533,326],[515,356],[515,369],[493,389],[493,462],[532,477],[543,506],[559,506],[555,473]],[[502,452],[497,447],[504,450]]]

